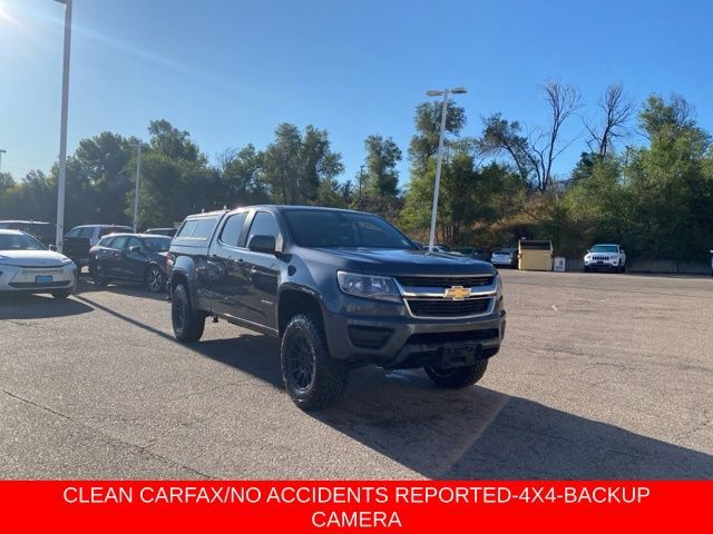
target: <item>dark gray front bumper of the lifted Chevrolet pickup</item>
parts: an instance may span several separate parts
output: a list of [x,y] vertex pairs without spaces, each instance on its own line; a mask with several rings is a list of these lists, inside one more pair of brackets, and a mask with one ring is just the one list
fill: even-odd
[[486,314],[468,318],[419,318],[403,304],[350,296],[326,306],[330,353],[354,366],[460,367],[494,356],[505,336],[502,298]]

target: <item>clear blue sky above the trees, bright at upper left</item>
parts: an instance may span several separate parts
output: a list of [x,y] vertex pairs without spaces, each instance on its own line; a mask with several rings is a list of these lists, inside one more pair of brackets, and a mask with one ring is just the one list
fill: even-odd
[[[48,171],[59,152],[64,12],[52,0],[0,0],[2,171]],[[463,135],[501,112],[547,125],[541,86],[596,100],[621,82],[637,102],[677,92],[713,131],[713,2],[510,0],[74,0],[68,154],[104,130],[148,140],[150,120],[188,130],[215,161],[265,147],[281,122],[326,129],[341,179],[370,134],[406,155],[428,89],[468,88]],[[564,130],[577,138],[582,118]],[[643,142],[634,137],[629,144]],[[566,175],[579,138],[559,158]]]

